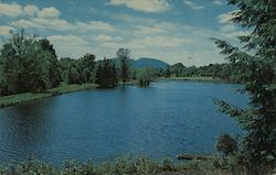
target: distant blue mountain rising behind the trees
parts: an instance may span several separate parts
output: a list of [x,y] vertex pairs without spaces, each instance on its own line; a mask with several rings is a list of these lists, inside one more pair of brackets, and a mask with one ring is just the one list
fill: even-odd
[[[116,66],[119,66],[119,59],[113,58],[113,62]],[[144,68],[144,67],[153,67],[153,68],[166,68],[170,66],[168,63],[162,62],[157,58],[141,57],[139,59],[129,59],[129,63],[132,68]]]

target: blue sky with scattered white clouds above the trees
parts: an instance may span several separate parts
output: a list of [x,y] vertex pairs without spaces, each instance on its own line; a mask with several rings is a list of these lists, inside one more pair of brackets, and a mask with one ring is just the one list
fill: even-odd
[[152,57],[201,66],[225,62],[210,37],[237,43],[225,0],[0,0],[0,45],[10,30],[47,39],[59,57]]

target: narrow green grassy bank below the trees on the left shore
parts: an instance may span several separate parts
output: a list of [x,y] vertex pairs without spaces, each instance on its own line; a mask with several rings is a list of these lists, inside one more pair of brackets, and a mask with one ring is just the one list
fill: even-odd
[[12,105],[18,105],[18,103],[31,102],[31,101],[39,100],[45,97],[52,97],[52,96],[62,95],[65,92],[96,88],[96,87],[97,85],[95,84],[83,84],[83,85],[62,84],[60,87],[47,89],[43,92],[25,92],[25,94],[2,96],[0,97],[0,108],[12,106]]

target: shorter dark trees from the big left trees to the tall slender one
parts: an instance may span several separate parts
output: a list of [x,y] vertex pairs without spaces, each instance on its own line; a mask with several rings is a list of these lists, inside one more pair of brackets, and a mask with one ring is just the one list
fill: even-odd
[[130,50],[119,48],[116,54],[120,61],[117,66],[113,59],[96,62],[93,54],[85,54],[79,59],[61,58],[63,80],[67,84],[96,83],[100,87],[115,87],[121,80],[125,85],[129,79]]

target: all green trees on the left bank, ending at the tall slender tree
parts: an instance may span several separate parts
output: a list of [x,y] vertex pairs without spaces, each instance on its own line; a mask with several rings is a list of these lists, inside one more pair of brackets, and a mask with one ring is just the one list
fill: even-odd
[[0,96],[43,91],[66,84],[96,83],[115,87],[129,79],[130,51],[120,48],[118,67],[112,59],[95,61],[93,54],[78,59],[57,59],[53,45],[46,39],[28,37],[24,31],[13,33],[0,51]]

